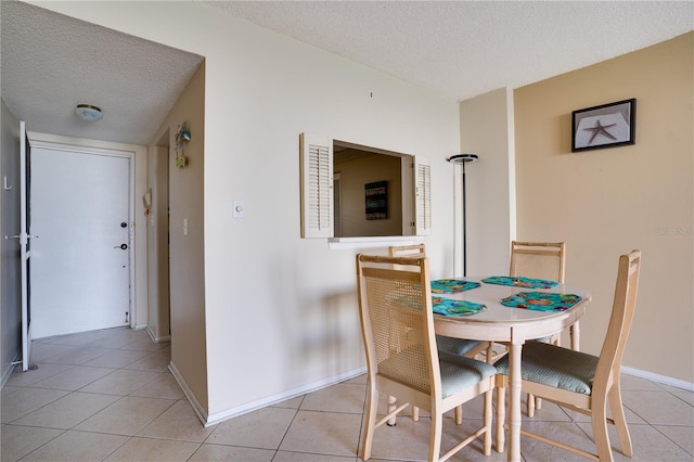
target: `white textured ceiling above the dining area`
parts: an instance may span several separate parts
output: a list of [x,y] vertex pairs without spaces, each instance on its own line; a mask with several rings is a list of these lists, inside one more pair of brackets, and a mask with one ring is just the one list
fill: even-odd
[[694,28],[692,1],[205,1],[461,100]]

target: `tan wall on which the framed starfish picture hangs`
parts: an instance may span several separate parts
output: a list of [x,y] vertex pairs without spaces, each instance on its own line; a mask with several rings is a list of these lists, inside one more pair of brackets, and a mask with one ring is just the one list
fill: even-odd
[[[643,252],[624,364],[694,382],[694,34],[515,91],[517,235],[565,241],[591,291],[581,347],[605,335],[617,259]],[[571,111],[637,99],[635,145],[570,152]]]

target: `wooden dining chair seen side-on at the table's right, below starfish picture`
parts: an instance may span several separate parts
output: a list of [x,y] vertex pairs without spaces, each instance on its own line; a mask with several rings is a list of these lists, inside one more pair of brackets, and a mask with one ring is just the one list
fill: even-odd
[[[637,306],[640,267],[640,251],[619,257],[612,315],[599,357],[542,342],[528,342],[523,347],[523,390],[590,415],[597,454],[522,429],[523,435],[593,460],[612,461],[609,423],[617,428],[621,452],[628,457],[633,454],[621,403],[619,371]],[[497,450],[503,451],[503,438],[499,436],[503,435],[509,359],[502,358],[494,365],[499,371]],[[607,418],[608,402],[612,418]]]

